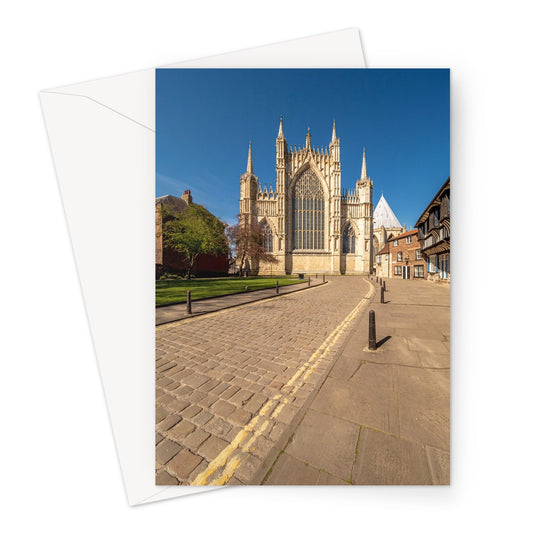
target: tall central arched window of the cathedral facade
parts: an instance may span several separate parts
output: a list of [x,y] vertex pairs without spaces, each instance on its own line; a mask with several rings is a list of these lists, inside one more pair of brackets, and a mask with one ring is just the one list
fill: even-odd
[[310,169],[303,172],[294,187],[292,243],[294,250],[324,249],[324,192]]

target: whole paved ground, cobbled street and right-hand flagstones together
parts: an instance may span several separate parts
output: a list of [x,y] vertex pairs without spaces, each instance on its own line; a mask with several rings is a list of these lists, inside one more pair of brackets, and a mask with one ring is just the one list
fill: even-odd
[[[156,484],[449,483],[449,287],[362,277],[156,328]],[[368,352],[368,308],[376,352]]]

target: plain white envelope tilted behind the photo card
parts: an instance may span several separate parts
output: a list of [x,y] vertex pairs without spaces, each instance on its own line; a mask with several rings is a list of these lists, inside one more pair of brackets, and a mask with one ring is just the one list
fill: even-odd
[[[164,68],[364,66],[352,28]],[[155,70],[40,98],[128,502],[210,490],[154,479]]]

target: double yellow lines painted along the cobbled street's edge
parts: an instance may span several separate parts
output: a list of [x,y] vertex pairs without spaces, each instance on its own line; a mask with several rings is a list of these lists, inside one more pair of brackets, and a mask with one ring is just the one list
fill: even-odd
[[[191,485],[224,485],[234,475],[241,462],[241,457],[239,456],[238,452],[248,452],[257,439],[265,433],[271,422],[278,418],[284,407],[291,402],[291,397],[293,397],[294,394],[307,382],[311,374],[316,370],[317,366],[331,352],[341,335],[346,331],[350,323],[359,314],[365,305],[366,300],[369,300],[374,296],[376,292],[374,285],[366,279],[364,281],[370,285],[368,292],[352,309],[352,311],[350,311],[344,320],[331,332],[331,334],[311,355],[311,357],[304,364],[302,364],[291,377],[291,379],[289,379],[285,387],[292,387],[292,390],[288,394],[277,394],[271,398],[260,409],[259,413],[248,424],[246,424],[241,431],[239,431],[231,443],[228,444],[228,446],[226,446],[226,448],[224,448],[220,454],[207,465],[205,470],[196,476]],[[256,430],[256,426],[259,424],[261,418],[267,417],[268,412],[272,408],[273,411],[270,416]]]

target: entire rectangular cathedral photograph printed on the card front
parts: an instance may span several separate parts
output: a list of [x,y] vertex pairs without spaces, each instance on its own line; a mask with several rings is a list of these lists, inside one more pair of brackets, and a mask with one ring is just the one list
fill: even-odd
[[155,106],[156,484],[448,485],[450,71],[157,69]]

